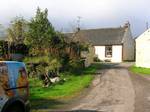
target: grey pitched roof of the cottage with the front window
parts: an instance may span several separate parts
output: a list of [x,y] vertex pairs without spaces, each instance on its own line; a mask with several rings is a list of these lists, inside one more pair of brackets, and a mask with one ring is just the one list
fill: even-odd
[[[71,36],[73,33],[66,34]],[[87,41],[95,46],[122,44],[125,34],[124,27],[80,30],[76,33],[76,40]]]

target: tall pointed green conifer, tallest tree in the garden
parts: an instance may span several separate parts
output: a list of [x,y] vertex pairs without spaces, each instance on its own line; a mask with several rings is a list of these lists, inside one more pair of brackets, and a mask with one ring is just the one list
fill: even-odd
[[41,11],[37,8],[35,17],[29,23],[25,39],[25,43],[31,48],[31,53],[35,55],[47,53],[54,36],[55,30],[48,20],[48,10]]

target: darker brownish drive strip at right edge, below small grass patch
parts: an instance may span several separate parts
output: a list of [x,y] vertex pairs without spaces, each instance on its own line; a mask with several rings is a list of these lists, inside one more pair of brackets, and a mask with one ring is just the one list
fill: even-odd
[[150,76],[130,74],[135,89],[134,112],[150,112]]

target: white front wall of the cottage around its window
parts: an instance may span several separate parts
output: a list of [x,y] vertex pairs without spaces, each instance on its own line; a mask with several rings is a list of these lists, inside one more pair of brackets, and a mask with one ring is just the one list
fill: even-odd
[[112,57],[105,57],[105,46],[95,46],[95,54],[102,61],[110,60],[111,62],[122,62],[122,45],[112,46]]

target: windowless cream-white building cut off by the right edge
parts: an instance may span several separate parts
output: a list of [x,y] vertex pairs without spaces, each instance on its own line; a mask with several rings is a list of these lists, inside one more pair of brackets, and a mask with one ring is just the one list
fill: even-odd
[[136,38],[136,66],[150,68],[150,29]]

